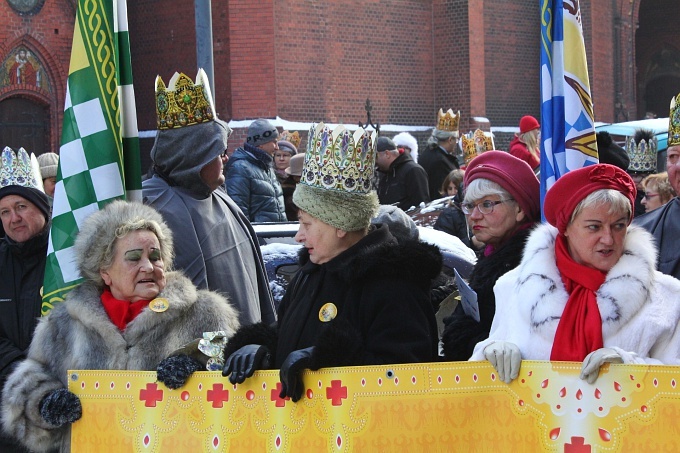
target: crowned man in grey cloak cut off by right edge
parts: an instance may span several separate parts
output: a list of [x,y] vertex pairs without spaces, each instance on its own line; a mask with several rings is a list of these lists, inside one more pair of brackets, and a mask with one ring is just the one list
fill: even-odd
[[[668,180],[680,193],[680,94],[671,99],[668,125],[668,149],[666,150],[666,171]],[[680,279],[680,199],[673,198],[661,208],[636,217],[633,221],[654,236],[659,248],[658,269],[664,274]]]

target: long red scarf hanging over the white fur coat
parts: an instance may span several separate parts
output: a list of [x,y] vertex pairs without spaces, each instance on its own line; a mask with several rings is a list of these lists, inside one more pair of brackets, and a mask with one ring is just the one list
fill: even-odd
[[555,258],[569,299],[557,325],[550,360],[582,362],[602,347],[602,318],[595,291],[606,274],[574,261],[561,234],[555,242]]

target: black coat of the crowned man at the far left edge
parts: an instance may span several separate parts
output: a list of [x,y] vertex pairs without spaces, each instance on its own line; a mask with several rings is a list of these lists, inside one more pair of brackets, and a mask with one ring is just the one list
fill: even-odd
[[[0,389],[14,366],[26,358],[40,318],[49,226],[37,236],[16,243],[0,239]],[[0,435],[0,451],[23,452]]]

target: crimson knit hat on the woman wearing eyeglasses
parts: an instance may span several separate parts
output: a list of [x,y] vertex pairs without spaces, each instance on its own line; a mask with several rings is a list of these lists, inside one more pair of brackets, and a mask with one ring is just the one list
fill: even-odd
[[529,164],[505,151],[487,151],[470,162],[465,170],[465,185],[478,178],[488,179],[507,190],[527,215],[540,219],[540,183]]

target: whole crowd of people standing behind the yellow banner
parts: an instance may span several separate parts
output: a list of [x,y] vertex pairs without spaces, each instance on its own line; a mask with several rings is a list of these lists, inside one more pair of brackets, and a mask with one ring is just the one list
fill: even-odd
[[[155,370],[173,389],[200,370],[240,384],[279,369],[280,396],[298,401],[302,371],[323,367],[488,360],[509,383],[522,360],[577,361],[593,383],[605,363],[680,365],[674,115],[665,172],[646,131],[625,148],[598,134],[600,163],[563,175],[541,206],[531,116],[508,151],[475,132],[462,165],[451,109],[420,152],[407,132],[323,123],[303,149],[298,132],[258,119],[228,157],[231,129],[201,90],[204,74],[176,74],[167,89],[158,80],[168,95],[191,84],[212,114],[159,121],[143,203],[84,219],[74,248],[84,281],[45,317],[59,156],[27,165],[36,159],[25,150],[3,150],[0,450],[69,451],[82,407],[68,369]],[[461,301],[440,335],[441,293],[457,284],[404,211],[442,197],[435,228],[478,259],[465,282],[476,302]],[[278,306],[251,225],[263,221],[299,221],[300,269]],[[196,349],[206,332],[221,353]]]

